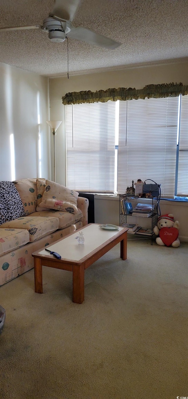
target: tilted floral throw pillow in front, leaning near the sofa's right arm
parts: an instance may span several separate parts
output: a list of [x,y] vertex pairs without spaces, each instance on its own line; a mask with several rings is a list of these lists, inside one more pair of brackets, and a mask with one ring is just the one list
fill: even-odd
[[58,211],[77,213],[78,193],[61,184],[46,180],[45,191],[39,209],[50,208]]

